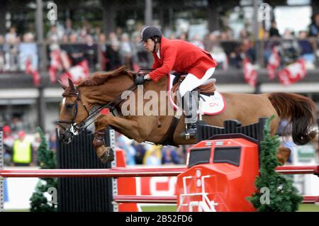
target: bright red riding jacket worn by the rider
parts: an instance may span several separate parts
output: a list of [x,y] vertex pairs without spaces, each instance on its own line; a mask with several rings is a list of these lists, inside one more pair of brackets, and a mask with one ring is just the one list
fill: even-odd
[[184,40],[169,40],[162,37],[159,56],[160,59],[156,52],[153,52],[152,68],[155,70],[150,72],[153,81],[158,81],[172,70],[191,73],[201,79],[209,68],[217,66],[216,60],[209,52]]

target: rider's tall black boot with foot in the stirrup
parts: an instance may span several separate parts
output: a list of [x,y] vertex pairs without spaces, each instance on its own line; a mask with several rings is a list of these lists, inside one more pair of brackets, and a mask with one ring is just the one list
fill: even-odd
[[184,95],[184,111],[185,111],[185,132],[181,132],[181,136],[189,140],[191,137],[196,136],[196,122],[197,122],[197,95],[198,91],[186,91]]

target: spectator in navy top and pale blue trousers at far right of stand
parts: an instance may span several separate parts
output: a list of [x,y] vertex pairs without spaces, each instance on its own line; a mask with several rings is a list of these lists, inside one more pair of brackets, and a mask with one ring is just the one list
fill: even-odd
[[298,44],[301,48],[301,57],[306,60],[306,68],[314,69],[315,68],[315,54],[313,52],[313,46],[307,40],[306,30],[301,30],[298,35]]

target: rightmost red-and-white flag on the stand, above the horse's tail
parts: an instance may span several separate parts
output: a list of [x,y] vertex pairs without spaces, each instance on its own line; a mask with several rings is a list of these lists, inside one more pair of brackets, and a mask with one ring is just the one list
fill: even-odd
[[299,59],[293,64],[289,64],[282,69],[279,74],[279,81],[281,84],[288,86],[296,81],[299,81],[306,77],[306,62],[303,59]]

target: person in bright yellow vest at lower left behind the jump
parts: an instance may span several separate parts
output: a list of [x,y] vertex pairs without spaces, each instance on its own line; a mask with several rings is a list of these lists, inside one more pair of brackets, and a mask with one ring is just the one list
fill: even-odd
[[13,144],[13,166],[33,165],[33,148],[31,142],[26,139],[26,132],[20,130],[18,139]]

